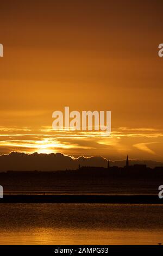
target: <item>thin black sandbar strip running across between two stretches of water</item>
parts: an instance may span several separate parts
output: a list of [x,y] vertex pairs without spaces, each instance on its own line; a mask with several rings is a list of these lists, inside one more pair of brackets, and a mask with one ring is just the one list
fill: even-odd
[[49,195],[4,194],[0,203],[110,203],[110,204],[162,204],[156,195]]

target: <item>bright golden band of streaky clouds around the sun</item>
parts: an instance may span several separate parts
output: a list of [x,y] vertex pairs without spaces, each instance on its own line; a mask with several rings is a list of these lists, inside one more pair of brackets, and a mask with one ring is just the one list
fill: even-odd
[[[108,137],[101,131],[54,131],[51,127],[37,130],[27,127],[23,129],[1,127],[0,138],[1,154],[11,151],[46,154],[61,152],[76,157],[110,156],[115,160],[123,159],[126,154],[130,154],[133,158],[134,156],[148,158],[153,155],[161,160],[162,157],[163,132],[151,128],[120,127],[112,129]],[[157,148],[155,148],[156,144]]]

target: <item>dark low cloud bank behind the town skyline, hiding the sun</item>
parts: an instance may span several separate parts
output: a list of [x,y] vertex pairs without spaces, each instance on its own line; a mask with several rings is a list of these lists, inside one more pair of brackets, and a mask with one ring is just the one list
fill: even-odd
[[[139,161],[130,160],[130,165],[146,164],[148,167],[163,166],[163,163],[156,161]],[[7,170],[65,170],[77,169],[78,166],[95,166],[107,167],[108,161],[102,156],[84,157],[80,156],[74,159],[71,156],[66,156],[61,153],[52,154],[25,154],[12,152],[8,155],[0,156],[0,171]],[[124,167],[126,160],[110,161],[110,166]]]

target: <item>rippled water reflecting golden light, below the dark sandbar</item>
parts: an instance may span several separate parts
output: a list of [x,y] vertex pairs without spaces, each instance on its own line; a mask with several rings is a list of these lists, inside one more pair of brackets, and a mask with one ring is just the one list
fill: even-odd
[[163,206],[0,204],[1,245],[163,243]]

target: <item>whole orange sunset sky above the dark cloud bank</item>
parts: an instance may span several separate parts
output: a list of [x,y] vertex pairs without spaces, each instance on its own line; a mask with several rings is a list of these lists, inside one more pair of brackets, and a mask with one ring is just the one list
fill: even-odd
[[[4,1],[0,153],[163,161],[162,1]],[[111,111],[111,137],[54,132],[52,113]]]

